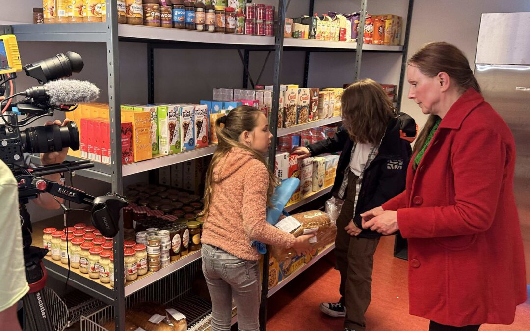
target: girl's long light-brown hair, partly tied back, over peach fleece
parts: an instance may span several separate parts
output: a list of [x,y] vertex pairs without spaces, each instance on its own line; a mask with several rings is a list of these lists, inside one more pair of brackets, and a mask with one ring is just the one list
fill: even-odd
[[208,171],[206,172],[206,183],[204,193],[204,210],[199,213],[200,217],[207,216],[211,199],[214,194],[214,169],[222,162],[233,147],[242,148],[250,151],[254,157],[262,162],[269,171],[269,188],[267,191],[267,205],[270,205],[270,198],[274,189],[278,186],[278,178],[275,173],[270,171],[265,158],[249,146],[239,141],[241,133],[244,131],[253,131],[258,125],[258,118],[262,112],[251,106],[239,106],[231,110],[224,123],[222,118],[215,122],[215,132],[217,133],[218,145],[214,157],[211,159]]

